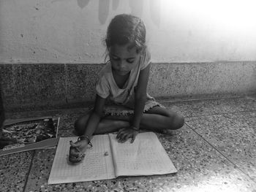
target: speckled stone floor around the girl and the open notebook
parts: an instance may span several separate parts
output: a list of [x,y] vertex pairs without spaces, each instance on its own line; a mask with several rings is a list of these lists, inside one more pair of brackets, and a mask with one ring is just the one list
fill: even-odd
[[[0,191],[253,191],[256,192],[256,96],[162,101],[186,117],[172,137],[157,134],[176,174],[47,185],[56,149],[0,157]],[[72,136],[88,109],[7,113],[7,118],[55,115],[60,137]]]

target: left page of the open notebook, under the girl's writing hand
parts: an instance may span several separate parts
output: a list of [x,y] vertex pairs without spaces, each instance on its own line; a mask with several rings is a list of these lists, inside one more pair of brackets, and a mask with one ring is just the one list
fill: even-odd
[[[93,147],[86,150],[86,157],[80,164],[70,164],[69,141],[78,137],[61,137],[56,150],[48,184],[73,183],[115,178],[110,141],[107,134],[91,139]],[[105,155],[108,152],[108,155]]]

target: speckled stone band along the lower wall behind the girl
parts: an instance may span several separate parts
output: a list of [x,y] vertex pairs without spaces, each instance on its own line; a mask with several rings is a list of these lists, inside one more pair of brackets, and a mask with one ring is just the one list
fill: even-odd
[[[1,64],[7,111],[84,107],[94,100],[99,64]],[[156,99],[256,93],[256,62],[152,64]]]

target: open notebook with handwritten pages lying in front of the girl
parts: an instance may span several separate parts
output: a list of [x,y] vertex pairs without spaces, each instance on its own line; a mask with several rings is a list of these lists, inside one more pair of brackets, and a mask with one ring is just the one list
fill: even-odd
[[86,150],[86,157],[80,164],[69,163],[70,140],[75,142],[77,137],[59,139],[48,184],[177,172],[153,132],[138,134],[132,144],[129,140],[124,143],[117,142],[116,134],[96,135],[91,139],[93,147]]

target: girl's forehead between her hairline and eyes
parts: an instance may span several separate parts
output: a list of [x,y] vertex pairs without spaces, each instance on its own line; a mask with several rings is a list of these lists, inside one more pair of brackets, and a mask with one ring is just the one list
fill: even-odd
[[119,58],[132,58],[138,55],[137,48],[130,47],[129,44],[127,45],[112,45],[110,46],[110,54],[116,55]]

